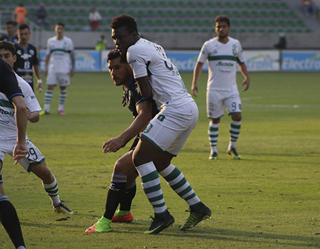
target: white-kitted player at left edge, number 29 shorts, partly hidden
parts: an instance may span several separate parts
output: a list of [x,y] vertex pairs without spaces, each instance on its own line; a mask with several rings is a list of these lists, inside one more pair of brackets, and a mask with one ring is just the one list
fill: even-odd
[[[4,59],[11,68],[13,68],[14,62],[16,61],[14,44],[8,41],[1,41],[0,57]],[[30,122],[38,122],[41,107],[31,86],[17,74],[16,79],[18,80],[18,85],[23,93],[26,107],[28,108],[28,120]],[[6,95],[1,92],[0,103],[0,162],[2,164],[6,154],[11,156],[13,155],[17,131],[16,120],[14,119],[14,106],[11,105]],[[27,172],[33,172],[33,174],[36,174],[36,176],[42,180],[43,188],[48,193],[55,212],[73,214],[73,211],[60,201],[58,183],[55,176],[53,176],[48,168],[43,154],[41,154],[39,149],[31,142],[28,136],[26,136],[26,146],[28,148],[28,154],[26,154],[26,157],[21,158],[18,163],[21,164]]]

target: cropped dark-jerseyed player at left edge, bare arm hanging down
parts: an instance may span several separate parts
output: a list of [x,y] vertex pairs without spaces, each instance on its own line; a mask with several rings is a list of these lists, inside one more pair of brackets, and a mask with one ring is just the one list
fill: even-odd
[[[14,159],[16,163],[19,159],[26,156],[28,149],[26,147],[26,125],[27,125],[27,109],[23,100],[23,95],[18,87],[16,75],[10,65],[0,58],[0,92],[3,92],[9,101],[14,105],[16,113],[16,127],[18,129],[18,137],[16,147],[14,148]],[[0,103],[1,105],[5,103]],[[0,172],[2,161],[0,160]],[[0,174],[0,221],[6,232],[10,236],[12,243],[16,248],[25,248],[23,236],[21,232],[20,222],[16,209],[9,201],[8,196],[4,194],[4,185]]]

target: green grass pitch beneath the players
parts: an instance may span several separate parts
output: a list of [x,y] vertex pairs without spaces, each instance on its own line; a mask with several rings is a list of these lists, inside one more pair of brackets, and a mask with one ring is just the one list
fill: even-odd
[[[182,73],[190,90],[192,73]],[[75,214],[65,221],[33,174],[6,157],[4,189],[16,207],[28,248],[319,248],[320,247],[320,73],[250,73],[242,98],[241,161],[230,159],[230,117],[218,138],[219,160],[209,161],[206,79],[199,82],[198,125],[173,163],[213,211],[212,218],[188,232],[186,203],[161,179],[176,225],[159,235],[144,235],[153,213],[141,181],[134,221],[113,224],[112,233],[86,235],[100,218],[114,162],[129,149],[102,154],[102,142],[132,122],[122,107],[122,88],[107,73],[76,73],[65,112],[58,116],[58,89],[51,115],[28,124],[28,135],[55,174],[60,198]],[[238,75],[238,85],[242,76]],[[43,93],[37,95],[41,105]],[[0,248],[13,248],[0,226]]]

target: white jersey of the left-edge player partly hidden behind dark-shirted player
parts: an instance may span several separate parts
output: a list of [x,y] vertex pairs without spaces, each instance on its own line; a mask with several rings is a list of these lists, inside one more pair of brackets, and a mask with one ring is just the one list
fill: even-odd
[[[31,86],[17,74],[16,79],[24,95],[24,101],[28,110],[30,112],[40,112],[41,107]],[[0,92],[0,138],[16,138],[17,129],[14,116],[14,105],[11,104],[6,95]]]

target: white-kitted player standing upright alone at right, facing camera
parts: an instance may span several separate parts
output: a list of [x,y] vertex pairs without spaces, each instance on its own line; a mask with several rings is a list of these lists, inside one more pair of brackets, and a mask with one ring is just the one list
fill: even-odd
[[235,159],[241,159],[235,150],[235,143],[241,127],[241,100],[235,80],[237,63],[245,80],[242,92],[250,85],[247,67],[243,60],[240,42],[228,36],[230,20],[228,16],[215,18],[215,33],[217,37],[206,41],[193,70],[191,93],[196,97],[198,92],[198,78],[201,75],[203,64],[208,61],[209,75],[207,85],[207,115],[210,119],[208,136],[210,141],[210,160],[218,159],[218,134],[220,117],[223,116],[223,105],[231,116],[230,142],[227,153]]

